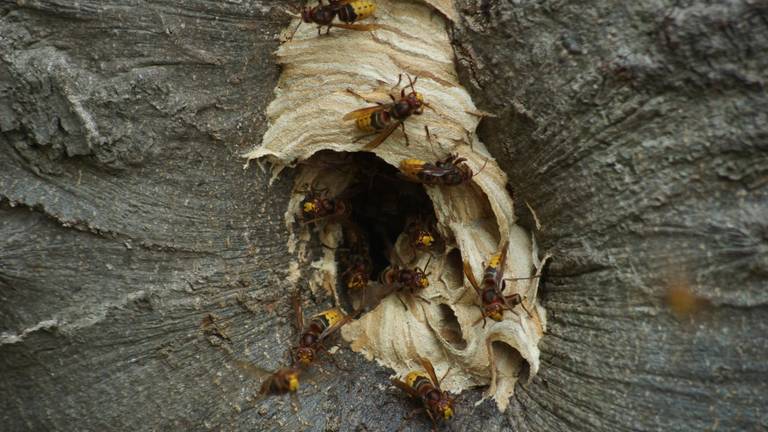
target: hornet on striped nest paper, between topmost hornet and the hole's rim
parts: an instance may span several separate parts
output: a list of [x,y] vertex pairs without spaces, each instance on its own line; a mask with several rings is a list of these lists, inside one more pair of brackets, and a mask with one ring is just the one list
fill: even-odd
[[[411,115],[423,114],[424,107],[430,108],[430,106],[424,101],[424,96],[421,93],[418,93],[414,87],[418,77],[411,79],[410,76],[406,76],[408,77],[409,85],[400,90],[399,99],[396,99],[390,94],[389,97],[392,99],[391,103],[378,103],[376,106],[361,108],[348,113],[342,118],[342,120],[355,120],[358,129],[369,133],[368,135],[363,135],[363,137],[376,135],[371,142],[363,147],[364,150],[373,150],[378,147],[384,140],[392,135],[392,132],[398,127],[402,129],[403,135],[405,136],[405,145],[410,144],[408,134],[405,132],[405,120]],[[393,88],[399,87],[402,80],[403,74],[400,74],[397,84],[395,84]],[[408,87],[410,87],[411,91],[406,93],[405,89]],[[348,89],[347,91],[355,96],[365,99],[352,90]]]

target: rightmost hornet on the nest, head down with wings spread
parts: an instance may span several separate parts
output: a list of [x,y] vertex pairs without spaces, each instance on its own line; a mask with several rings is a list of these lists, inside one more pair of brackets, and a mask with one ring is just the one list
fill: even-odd
[[506,286],[505,280],[503,279],[504,263],[507,259],[508,246],[509,244],[505,242],[502,245],[501,252],[491,256],[490,262],[483,274],[482,288],[478,285],[477,280],[475,280],[475,275],[472,273],[469,263],[464,263],[464,274],[467,276],[469,283],[475,289],[477,295],[480,296],[483,303],[483,315],[477,320],[477,322],[480,322],[481,320],[483,321],[483,327],[485,327],[486,318],[490,318],[494,321],[501,321],[504,310],[507,309],[514,312],[514,307],[518,304],[522,305],[525,312],[528,313],[528,316],[532,316],[528,308],[525,307],[525,303],[520,294],[515,293],[509,296],[503,294]]

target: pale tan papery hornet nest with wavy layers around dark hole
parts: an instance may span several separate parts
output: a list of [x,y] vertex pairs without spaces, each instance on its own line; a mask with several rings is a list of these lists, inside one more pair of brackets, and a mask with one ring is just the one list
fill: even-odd
[[[419,355],[430,359],[440,376],[450,368],[442,383],[448,391],[460,393],[469,387],[490,385],[489,395],[505,410],[517,380],[529,380],[539,368],[537,345],[546,326],[545,311],[534,300],[534,304],[528,303],[533,319],[518,306],[517,314],[505,311],[501,322],[489,319],[485,328],[473,325],[481,315],[481,303],[463,276],[462,261],[471,264],[479,280],[484,263],[498,252],[502,239],[508,239],[505,277],[530,276],[542,263],[531,234],[515,225],[506,175],[475,134],[480,114],[458,83],[446,31],[445,17],[455,15],[453,6],[437,0],[434,4],[377,0],[376,4],[374,22],[381,28],[373,32],[332,29],[329,36],[318,37],[314,25],[302,24],[293,39],[281,45],[277,58],[283,73],[275,100],[267,108],[270,126],[262,144],[246,156],[272,163],[277,173],[322,150],[361,151],[370,138],[355,142],[361,133],[354,122],[344,122],[342,117],[372,104],[347,89],[371,101],[389,102],[388,92],[398,74],[419,77],[416,90],[433,110],[405,122],[410,146],[406,147],[398,130],[375,154],[395,167],[406,158],[435,161],[450,153],[467,158],[474,172],[486,161],[487,166],[467,184],[425,188],[438,230],[446,241],[445,250],[432,259],[428,269],[430,286],[420,293],[429,303],[411,301],[406,310],[395,295],[389,295],[343,328],[342,335],[353,350],[399,376],[419,369],[415,361]],[[294,20],[289,31],[297,23]],[[404,78],[401,87],[405,84]],[[425,125],[431,142],[426,138]],[[319,183],[334,195],[350,181],[349,173],[333,164],[300,164],[296,189]],[[302,194],[294,194],[286,214],[292,230],[289,245],[297,255],[292,265],[294,281],[308,264],[305,246],[311,226],[299,227],[294,220],[302,198]],[[324,244],[336,246],[341,229],[337,223],[328,223],[322,226],[320,236]],[[404,241],[396,243],[393,253],[409,268],[423,266],[428,258],[426,254],[417,258]],[[322,258],[310,264],[311,273],[305,276],[310,277],[312,288],[324,287],[338,300],[339,271],[334,252],[326,250]],[[520,293],[530,302],[537,288],[538,279],[514,281],[507,284],[505,294]]]

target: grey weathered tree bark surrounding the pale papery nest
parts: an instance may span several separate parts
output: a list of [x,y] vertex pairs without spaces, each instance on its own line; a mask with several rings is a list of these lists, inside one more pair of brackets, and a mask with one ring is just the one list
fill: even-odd
[[[4,428],[380,431],[412,407],[347,350],[298,416],[231,367],[292,337],[290,173],[239,158],[284,6],[0,6]],[[557,257],[539,376],[505,416],[464,395],[455,429],[768,427],[765,6],[462,6],[481,138]],[[696,320],[662,301],[678,276]]]

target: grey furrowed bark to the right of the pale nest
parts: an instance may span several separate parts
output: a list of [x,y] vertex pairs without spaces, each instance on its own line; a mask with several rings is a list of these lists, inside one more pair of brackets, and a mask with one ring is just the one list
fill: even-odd
[[462,3],[481,139],[556,255],[515,429],[768,426],[765,7]]

